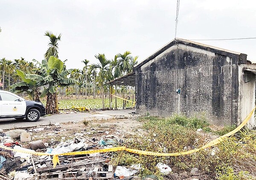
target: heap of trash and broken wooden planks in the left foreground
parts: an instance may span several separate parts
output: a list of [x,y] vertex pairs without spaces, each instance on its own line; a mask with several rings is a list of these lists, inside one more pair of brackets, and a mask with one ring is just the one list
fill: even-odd
[[[133,179],[140,172],[139,164],[131,167],[113,166],[110,163],[112,152],[59,156],[60,164],[55,168],[52,163],[53,156],[25,153],[61,154],[111,148],[123,143],[123,134],[118,131],[98,131],[91,128],[91,131],[84,130],[70,135],[60,127],[59,123],[52,125],[50,127],[52,133],[44,133],[47,127],[15,129],[6,132],[0,130],[0,146],[5,147],[0,148],[0,179],[128,180]],[[64,131],[62,135],[59,133],[61,131]],[[88,134],[97,134],[97,136],[89,137]]]

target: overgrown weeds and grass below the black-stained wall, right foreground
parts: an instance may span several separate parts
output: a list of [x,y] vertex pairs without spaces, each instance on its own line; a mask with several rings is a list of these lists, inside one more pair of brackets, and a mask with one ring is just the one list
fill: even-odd
[[[197,133],[198,128],[207,129],[209,123],[204,116],[200,118],[186,117],[185,115],[173,115],[168,118],[153,116],[141,117],[144,122],[145,134],[126,136],[126,147],[160,152],[173,153],[189,151],[205,145],[208,136]],[[214,134],[223,135],[232,131],[235,127],[224,127]],[[154,174],[162,179],[183,179],[179,173],[186,171],[188,174],[194,167],[200,170],[200,177],[204,180],[240,180],[256,177],[256,131],[246,128],[239,133],[224,139],[223,142],[211,148],[197,153],[177,157],[157,157],[123,153],[119,165],[132,165],[140,163],[141,176]],[[117,163],[118,155],[113,158]],[[169,165],[176,173],[163,176],[156,168],[158,162]]]

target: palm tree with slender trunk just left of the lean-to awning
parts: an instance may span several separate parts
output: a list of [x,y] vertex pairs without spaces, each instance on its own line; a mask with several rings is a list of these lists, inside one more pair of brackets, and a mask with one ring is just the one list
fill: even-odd
[[99,75],[96,77],[96,81],[98,82],[99,86],[102,90],[102,108],[104,108],[104,88],[103,85],[105,82],[108,81],[109,78],[112,77],[112,73],[110,71],[110,61],[107,60],[105,54],[98,54],[95,55],[95,58],[99,60],[98,64],[91,64],[91,70],[98,70]]

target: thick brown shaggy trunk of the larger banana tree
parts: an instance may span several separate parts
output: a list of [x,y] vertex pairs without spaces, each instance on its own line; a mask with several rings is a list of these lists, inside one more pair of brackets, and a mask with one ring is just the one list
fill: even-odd
[[47,114],[54,114],[58,113],[58,99],[57,94],[48,93],[47,100],[46,100],[46,113]]

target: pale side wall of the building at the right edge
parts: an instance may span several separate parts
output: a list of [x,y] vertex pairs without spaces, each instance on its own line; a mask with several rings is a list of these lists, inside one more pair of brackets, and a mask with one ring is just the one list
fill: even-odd
[[[256,64],[241,64],[239,65],[239,103],[238,103],[238,124],[246,118],[251,110],[255,107],[255,89],[256,75],[245,69],[256,70]],[[256,127],[254,116],[247,123],[247,128],[253,129]]]

